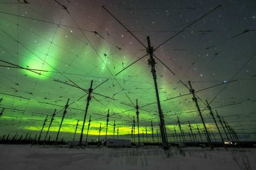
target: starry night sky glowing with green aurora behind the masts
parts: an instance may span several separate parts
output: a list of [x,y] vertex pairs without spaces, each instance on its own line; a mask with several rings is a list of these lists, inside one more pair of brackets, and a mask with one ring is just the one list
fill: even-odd
[[[207,14],[220,4],[222,6]],[[220,141],[220,137],[205,100],[210,103],[219,126],[215,110],[241,141],[255,140],[255,7],[256,1],[250,0],[28,0],[28,3],[1,0],[0,98],[3,100],[0,109],[4,111],[0,135],[14,136],[16,132],[38,135],[49,115],[42,133],[44,137],[56,108],[49,131],[51,137],[56,137],[69,99],[59,137],[73,139],[79,120],[78,140],[88,96],[82,89],[88,91],[93,80],[95,89],[86,115],[84,136],[91,116],[88,139],[98,138],[100,123],[100,138],[105,138],[109,109],[107,137],[113,138],[115,121],[115,137],[118,127],[119,138],[131,138],[134,116],[137,140],[137,99],[141,107],[140,137],[142,130],[145,137],[147,127],[148,140],[151,140],[151,121],[155,136],[156,130],[160,130],[156,91],[147,61],[149,55],[120,72],[147,54],[149,36],[151,46],[156,49],[153,54],[162,62],[154,56],[168,141],[173,142],[174,128],[177,134],[180,132],[177,116],[187,140],[190,140],[188,121],[193,133],[198,134],[196,125],[203,133],[193,96],[188,94],[188,81],[199,97],[206,127],[217,140]],[[186,26],[189,27],[180,32]],[[220,130],[224,133],[221,127]]]

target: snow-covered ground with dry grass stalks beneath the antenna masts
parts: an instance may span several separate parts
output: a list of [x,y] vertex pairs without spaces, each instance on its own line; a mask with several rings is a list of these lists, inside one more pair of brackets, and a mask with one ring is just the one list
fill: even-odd
[[256,149],[159,147],[83,149],[35,145],[0,145],[1,170],[236,170],[256,169]]

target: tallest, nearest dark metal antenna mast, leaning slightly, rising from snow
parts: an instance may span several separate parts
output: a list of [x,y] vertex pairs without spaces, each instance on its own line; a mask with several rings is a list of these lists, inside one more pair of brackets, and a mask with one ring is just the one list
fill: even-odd
[[164,116],[161,111],[158,88],[157,88],[157,83],[156,83],[156,69],[155,69],[156,61],[153,58],[154,48],[151,47],[149,36],[147,37],[147,40],[148,40],[148,47],[146,48],[146,50],[147,50],[147,53],[149,54],[148,65],[151,66],[151,72],[152,72],[155,89],[156,89],[156,101],[157,101],[158,113],[159,113],[159,118],[160,118],[160,133],[161,133],[161,137],[162,137],[162,143],[164,144],[164,150],[169,150],[168,141],[167,141],[165,130],[164,130]]

